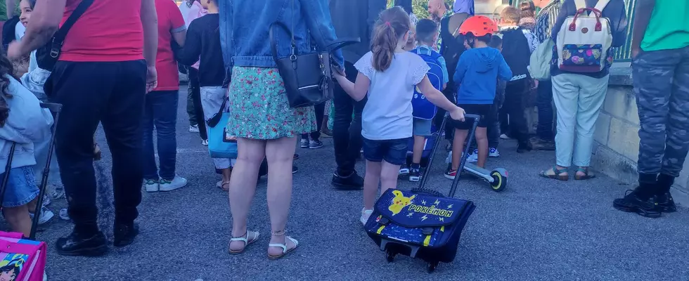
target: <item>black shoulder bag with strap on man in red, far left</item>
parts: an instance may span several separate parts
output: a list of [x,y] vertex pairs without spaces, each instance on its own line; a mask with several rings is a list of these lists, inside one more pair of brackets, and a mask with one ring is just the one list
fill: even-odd
[[36,62],[38,63],[38,67],[44,70],[53,70],[53,67],[55,67],[55,64],[58,62],[58,58],[60,58],[60,50],[63,44],[65,44],[67,32],[70,31],[72,25],[77,22],[79,17],[86,12],[86,9],[89,8],[91,4],[94,4],[94,0],[82,0],[60,29],[53,34],[53,38],[51,38],[47,44],[36,50]]

